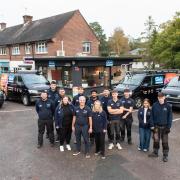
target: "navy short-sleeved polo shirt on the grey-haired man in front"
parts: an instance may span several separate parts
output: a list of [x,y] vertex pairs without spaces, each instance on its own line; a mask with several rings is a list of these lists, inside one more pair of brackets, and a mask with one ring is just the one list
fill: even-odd
[[75,109],[76,125],[85,126],[89,125],[89,117],[92,117],[92,111],[88,106],[83,109],[77,107]]

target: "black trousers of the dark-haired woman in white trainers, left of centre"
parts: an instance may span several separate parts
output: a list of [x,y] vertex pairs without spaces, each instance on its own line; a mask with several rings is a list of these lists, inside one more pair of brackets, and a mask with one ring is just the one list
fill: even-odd
[[59,137],[60,137],[60,146],[64,144],[70,144],[72,134],[72,126],[62,127],[59,129]]

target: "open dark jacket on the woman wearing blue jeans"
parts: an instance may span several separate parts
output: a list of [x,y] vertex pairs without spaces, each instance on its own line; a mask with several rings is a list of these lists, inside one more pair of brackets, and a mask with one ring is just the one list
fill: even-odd
[[150,128],[151,109],[147,109],[146,112],[146,123],[144,123],[144,108],[138,110],[138,120],[140,128]]

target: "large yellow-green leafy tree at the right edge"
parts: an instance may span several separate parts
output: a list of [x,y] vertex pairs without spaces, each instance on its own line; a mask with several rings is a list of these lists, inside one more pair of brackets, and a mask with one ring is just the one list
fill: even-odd
[[151,41],[151,53],[166,68],[180,68],[180,12],[160,26]]

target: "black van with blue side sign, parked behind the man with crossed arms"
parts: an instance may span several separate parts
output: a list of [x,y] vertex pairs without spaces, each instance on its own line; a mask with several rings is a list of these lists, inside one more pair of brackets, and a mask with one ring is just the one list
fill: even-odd
[[158,92],[164,87],[164,80],[165,74],[161,71],[127,72],[115,89],[119,97],[122,97],[124,89],[129,88],[135,101],[135,108],[140,108],[143,99],[148,98],[151,102],[157,99]]

